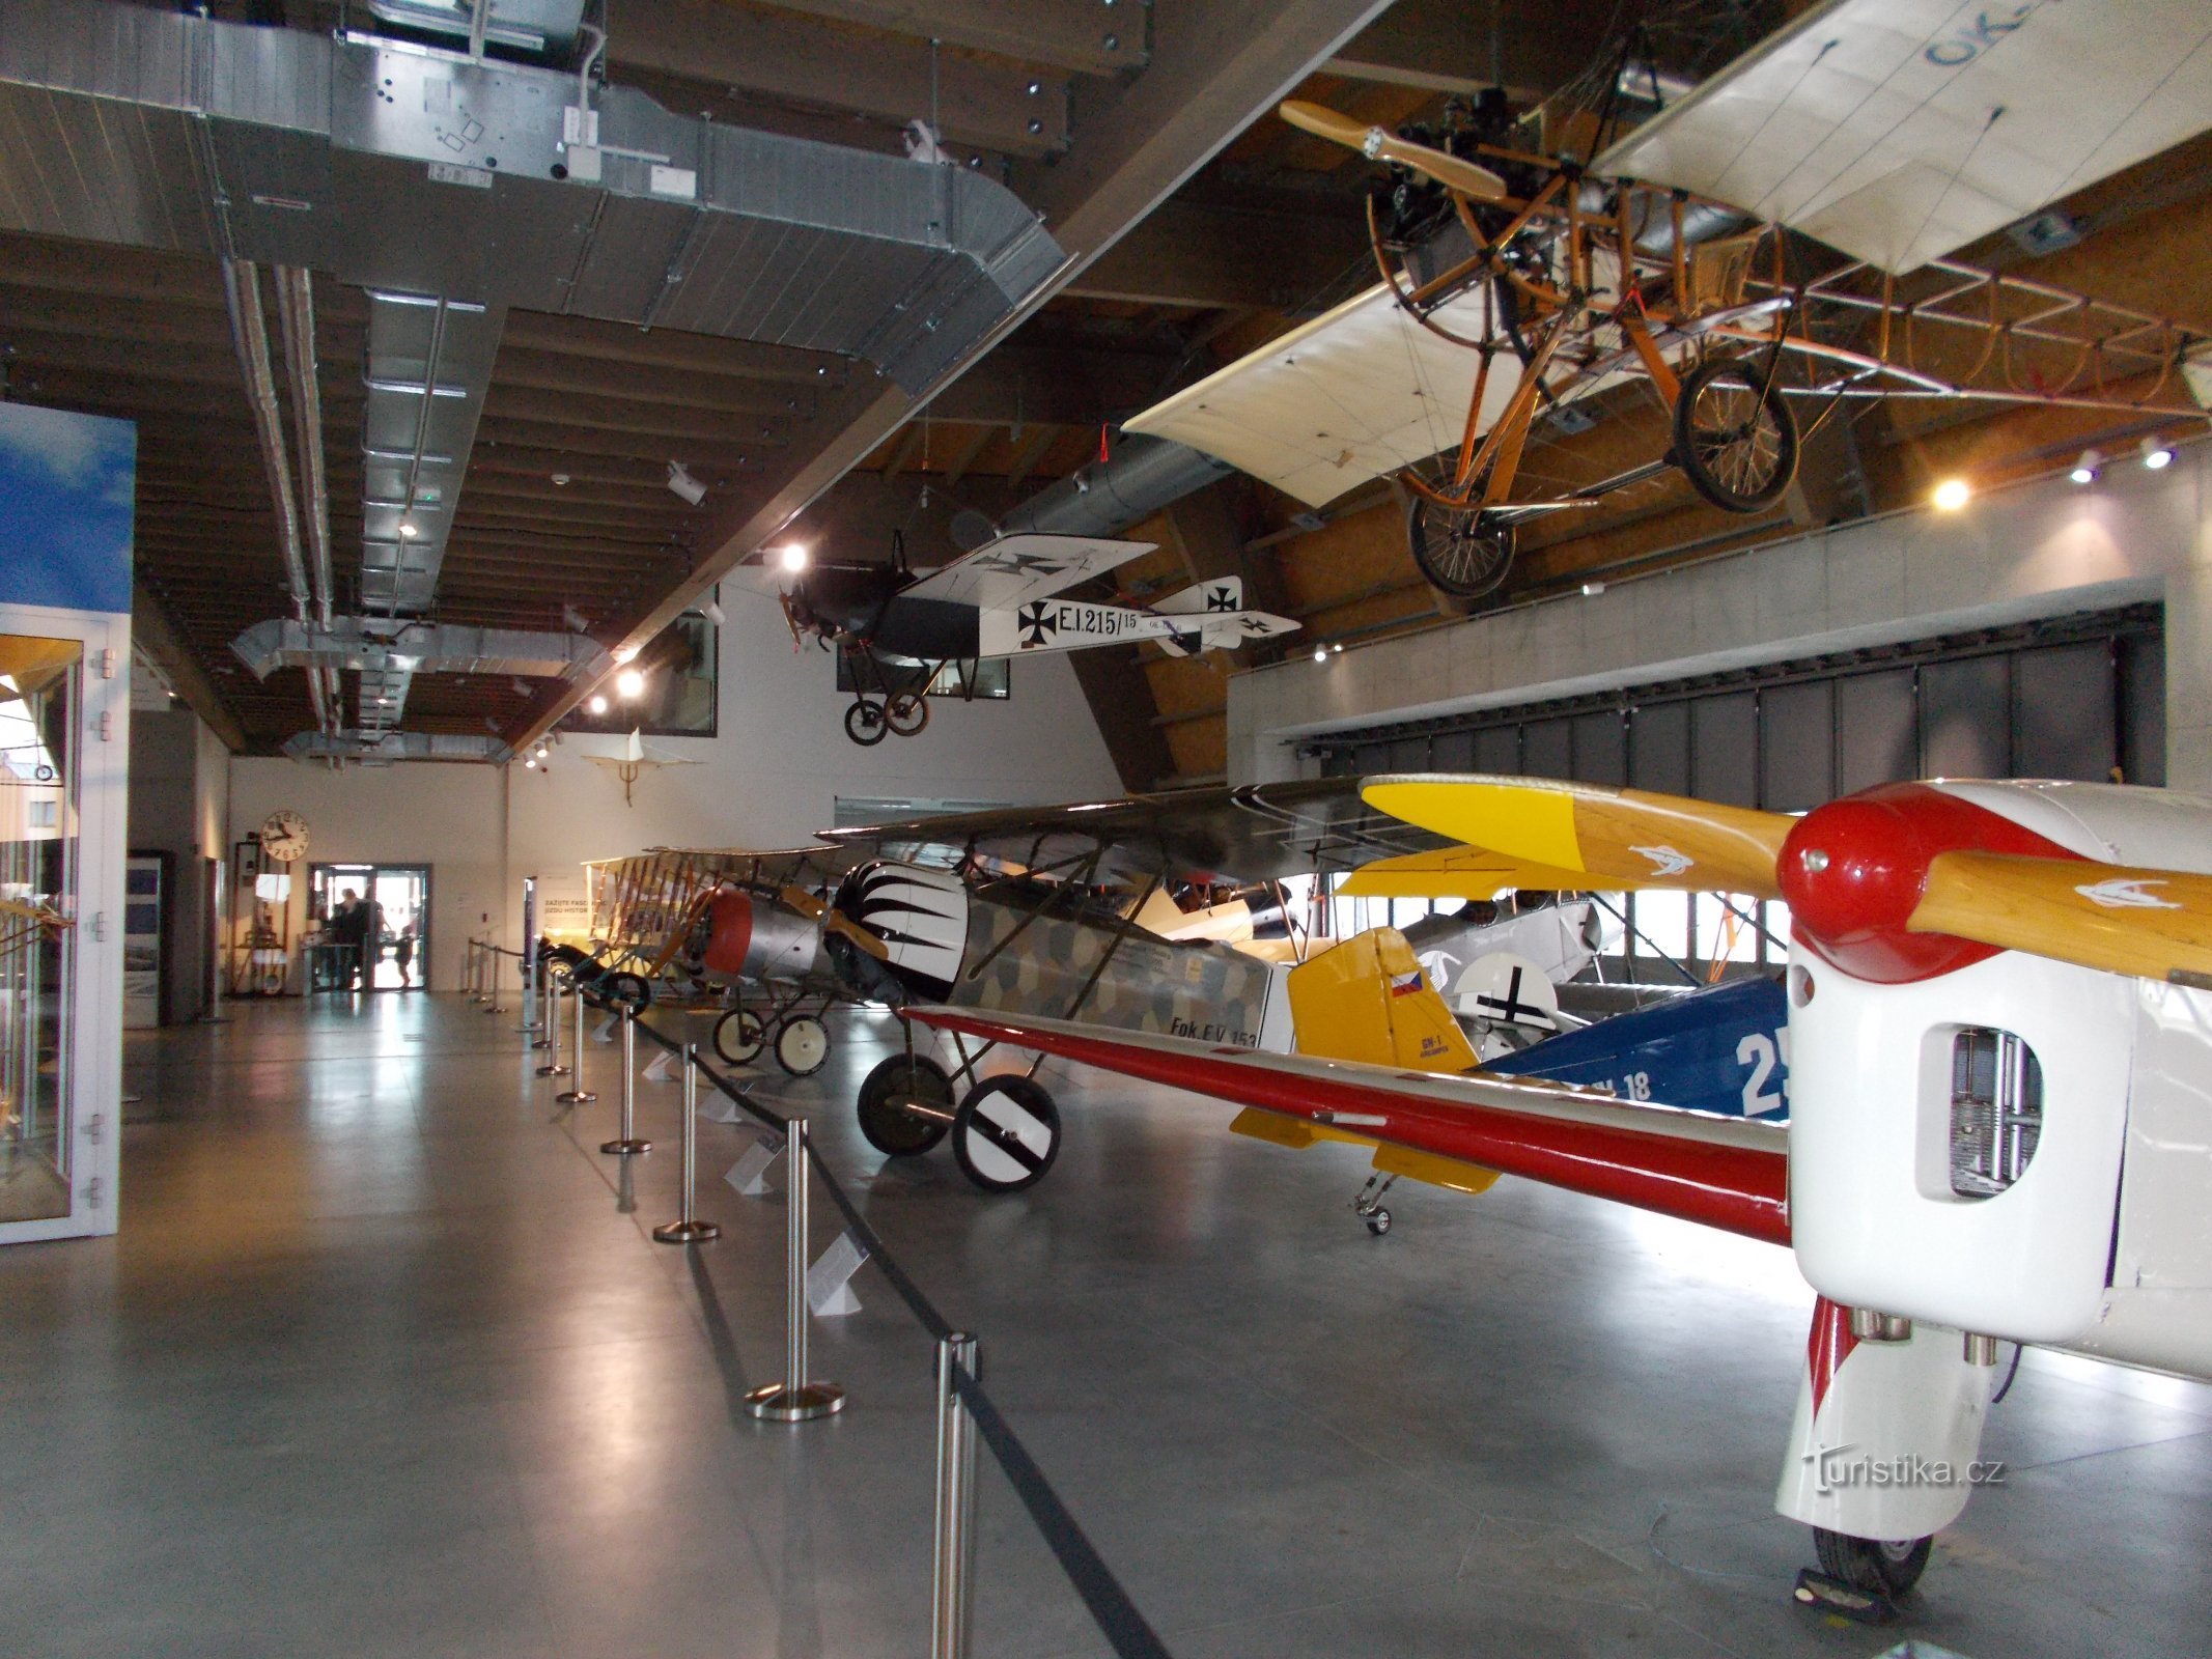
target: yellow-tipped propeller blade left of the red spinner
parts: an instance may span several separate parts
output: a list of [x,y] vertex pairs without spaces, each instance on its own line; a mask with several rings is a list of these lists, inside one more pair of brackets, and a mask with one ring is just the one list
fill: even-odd
[[1599,783],[1385,776],[1360,796],[1471,847],[1582,872],[1573,885],[1670,887],[1781,898],[1774,860],[1796,818]]

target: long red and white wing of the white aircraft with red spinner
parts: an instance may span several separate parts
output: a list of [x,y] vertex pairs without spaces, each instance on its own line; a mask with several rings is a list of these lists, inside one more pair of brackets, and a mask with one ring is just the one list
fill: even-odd
[[1484,1073],[1447,1077],[969,1009],[907,1013],[940,1031],[1274,1113],[1294,1133],[1352,1133],[1790,1243],[1790,1137],[1776,1124],[1624,1106],[1579,1088]]

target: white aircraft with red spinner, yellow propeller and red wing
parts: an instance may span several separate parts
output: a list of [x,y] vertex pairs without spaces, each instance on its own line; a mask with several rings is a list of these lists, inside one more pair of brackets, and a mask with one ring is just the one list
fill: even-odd
[[[1803,818],[1582,783],[1365,799],[1588,887],[1790,905],[1790,1124],[969,1009],[911,1018],[1787,1245],[1818,1301],[1776,1506],[1807,1595],[1902,1595],[1966,1504],[1997,1343],[2212,1378],[2212,799],[1902,783]],[[1469,1186],[1478,1186],[1469,1181]],[[1920,1480],[1838,1478],[1898,1469]]]

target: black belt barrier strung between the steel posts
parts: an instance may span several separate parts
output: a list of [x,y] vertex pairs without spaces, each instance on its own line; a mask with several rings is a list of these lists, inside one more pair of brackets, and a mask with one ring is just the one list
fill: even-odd
[[[661,1035],[644,1022],[635,1011],[626,1013],[630,1024],[646,1035],[646,1040],[659,1044],[672,1055],[681,1055],[686,1044]],[[719,1071],[699,1060],[697,1048],[692,1048],[692,1066],[706,1077],[717,1091],[721,1091],[737,1108],[765,1128],[779,1135],[790,1133],[792,1117],[774,1113],[761,1106],[745,1093],[743,1084],[730,1082]],[[836,1206],[838,1214],[845,1217],[845,1225],[852,1230],[854,1239],[867,1252],[867,1259],[876,1263],[885,1281],[914,1314],[916,1323],[929,1332],[931,1340],[942,1343],[953,1336],[958,1327],[938,1312],[936,1303],[922,1292],[907,1270],[898,1265],[898,1259],[883,1243],[878,1234],[854,1208],[845,1188],[830,1175],[827,1166],[816,1155],[812,1159],[814,1177],[821,1181],[823,1192],[830,1194],[830,1203]],[[1015,1498],[1022,1500],[1022,1509],[1029,1511],[1031,1522],[1044,1535],[1046,1548],[1053,1551],[1053,1559],[1060,1562],[1060,1571],[1068,1575],[1068,1584],[1075,1586],[1075,1595],[1082,1597],[1084,1608],[1088,1608],[1091,1619],[1104,1632],[1108,1646],[1119,1659],[1172,1659],[1159,1632],[1152,1630],[1144,1613],[1130,1599],[1128,1590],[1121,1588],[1121,1579],[1115,1577],[1113,1568],[1091,1544],[1091,1537],[1075,1522],[1075,1515],[1053,1491],[1053,1482],[1046,1480],[1037,1460],[1029,1455],[1029,1447],[1015,1436],[1013,1425],[1000,1413],[998,1405],[984,1394],[982,1383],[978,1383],[969,1371],[953,1367],[953,1387],[960,1391],[960,1400],[967,1405],[969,1416],[975,1420],[982,1442],[991,1449],[998,1460],[1000,1471],[1013,1486]]]

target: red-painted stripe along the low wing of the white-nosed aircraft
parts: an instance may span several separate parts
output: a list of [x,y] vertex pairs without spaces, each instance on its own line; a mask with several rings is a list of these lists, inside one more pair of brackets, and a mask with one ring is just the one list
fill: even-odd
[[1146,1082],[1190,1088],[1201,1095],[1259,1106],[1314,1121],[1318,1110],[1358,1110],[1385,1117],[1383,1128],[1360,1128],[1378,1141],[1420,1152],[1464,1159],[1502,1175],[1586,1192],[1595,1199],[1632,1203],[1639,1210],[1701,1221],[1765,1243],[1790,1243],[1790,1159],[1747,1146],[1714,1146],[1674,1135],[1575,1124],[1473,1106],[1420,1099],[1389,1088],[1332,1079],[1325,1102],[1312,1079],[1239,1060],[1183,1055],[1121,1044],[1110,1037],[1077,1037],[971,1013],[931,1009],[914,1018],[971,1037],[1035,1048],[1086,1066],[1119,1071]]

